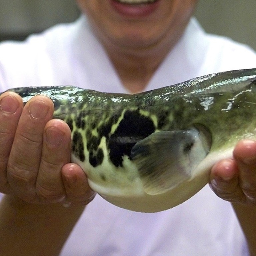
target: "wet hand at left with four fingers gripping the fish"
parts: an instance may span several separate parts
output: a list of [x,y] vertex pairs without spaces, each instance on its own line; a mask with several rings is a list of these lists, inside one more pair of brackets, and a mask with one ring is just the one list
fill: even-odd
[[89,203],[95,193],[80,166],[70,163],[71,132],[52,119],[53,102],[42,95],[23,108],[22,98],[0,96],[0,192],[30,203]]

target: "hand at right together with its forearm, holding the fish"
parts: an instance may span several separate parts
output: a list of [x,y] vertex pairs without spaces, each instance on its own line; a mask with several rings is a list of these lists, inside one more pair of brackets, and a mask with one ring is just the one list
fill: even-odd
[[219,197],[232,202],[250,255],[256,255],[256,142],[240,141],[233,159],[218,162],[212,168],[210,186]]

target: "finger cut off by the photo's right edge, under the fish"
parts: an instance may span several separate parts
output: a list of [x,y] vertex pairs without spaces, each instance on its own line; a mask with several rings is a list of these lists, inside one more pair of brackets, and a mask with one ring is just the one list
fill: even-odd
[[256,141],[242,140],[234,150],[239,168],[239,185],[247,200],[256,202]]

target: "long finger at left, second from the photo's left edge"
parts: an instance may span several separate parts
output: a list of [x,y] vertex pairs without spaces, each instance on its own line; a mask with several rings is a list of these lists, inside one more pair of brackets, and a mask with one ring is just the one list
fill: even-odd
[[25,201],[35,197],[43,131],[52,118],[53,110],[49,98],[35,96],[25,105],[17,126],[7,166],[7,178],[13,192]]

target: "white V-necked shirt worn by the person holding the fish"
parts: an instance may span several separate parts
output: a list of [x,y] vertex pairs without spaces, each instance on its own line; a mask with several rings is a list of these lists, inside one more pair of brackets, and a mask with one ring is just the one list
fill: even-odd
[[[197,76],[255,67],[249,47],[208,35],[191,19],[147,90]],[[74,85],[126,93],[85,17],[24,43],[0,44],[0,89]],[[54,238],[53,238],[54,239]],[[205,186],[183,204],[159,213],[118,208],[100,196],[86,207],[61,256],[245,256],[246,241],[231,204]]]

